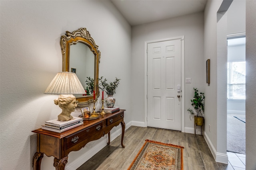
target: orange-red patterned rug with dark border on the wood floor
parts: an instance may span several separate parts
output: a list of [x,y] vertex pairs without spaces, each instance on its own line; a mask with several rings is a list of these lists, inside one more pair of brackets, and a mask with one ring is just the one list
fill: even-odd
[[147,139],[128,170],[183,170],[183,148]]

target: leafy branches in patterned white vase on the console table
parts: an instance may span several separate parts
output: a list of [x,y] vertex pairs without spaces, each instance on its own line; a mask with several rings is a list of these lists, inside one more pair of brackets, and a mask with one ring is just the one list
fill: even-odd
[[113,82],[107,83],[106,78],[103,79],[103,76],[99,78],[99,88],[104,90],[108,95],[105,98],[107,107],[114,107],[116,99],[113,97],[113,95],[116,93],[116,88],[120,84],[120,80],[121,79],[116,78]]

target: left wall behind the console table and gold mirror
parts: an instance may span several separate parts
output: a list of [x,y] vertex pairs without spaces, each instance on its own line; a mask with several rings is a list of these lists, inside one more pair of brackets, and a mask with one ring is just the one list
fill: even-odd
[[[1,114],[0,169],[32,169],[36,135],[44,121],[61,109],[56,95],[43,94],[52,78],[62,71],[60,36],[86,27],[101,51],[99,76],[121,78],[116,106],[131,118],[131,27],[109,1],[1,1]],[[99,104],[100,106],[100,104]],[[99,107],[97,107],[98,109]],[[80,114],[77,108],[72,115]],[[120,129],[115,127],[112,134]],[[71,152],[66,168],[84,163],[90,149],[106,145],[106,135],[78,152]],[[125,141],[124,141],[125,143]],[[72,166],[70,166],[72,165]],[[44,156],[42,170],[54,170],[53,157]]]

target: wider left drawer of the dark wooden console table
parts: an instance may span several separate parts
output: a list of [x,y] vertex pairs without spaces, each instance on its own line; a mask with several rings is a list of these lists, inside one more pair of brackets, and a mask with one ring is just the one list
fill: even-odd
[[77,145],[78,143],[84,141],[84,139],[91,137],[97,131],[102,130],[102,128],[103,128],[103,122],[101,121],[93,126],[90,126],[86,129],[78,131],[77,133],[74,133],[70,136],[65,137],[65,144],[64,144],[65,149],[69,149]]

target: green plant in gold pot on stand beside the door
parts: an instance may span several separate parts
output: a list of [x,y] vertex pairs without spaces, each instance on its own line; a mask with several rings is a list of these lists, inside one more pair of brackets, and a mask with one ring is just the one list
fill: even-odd
[[188,108],[188,111],[194,115],[195,125],[202,126],[204,123],[204,93],[198,92],[197,88],[194,88],[194,99],[190,100],[194,110]]

